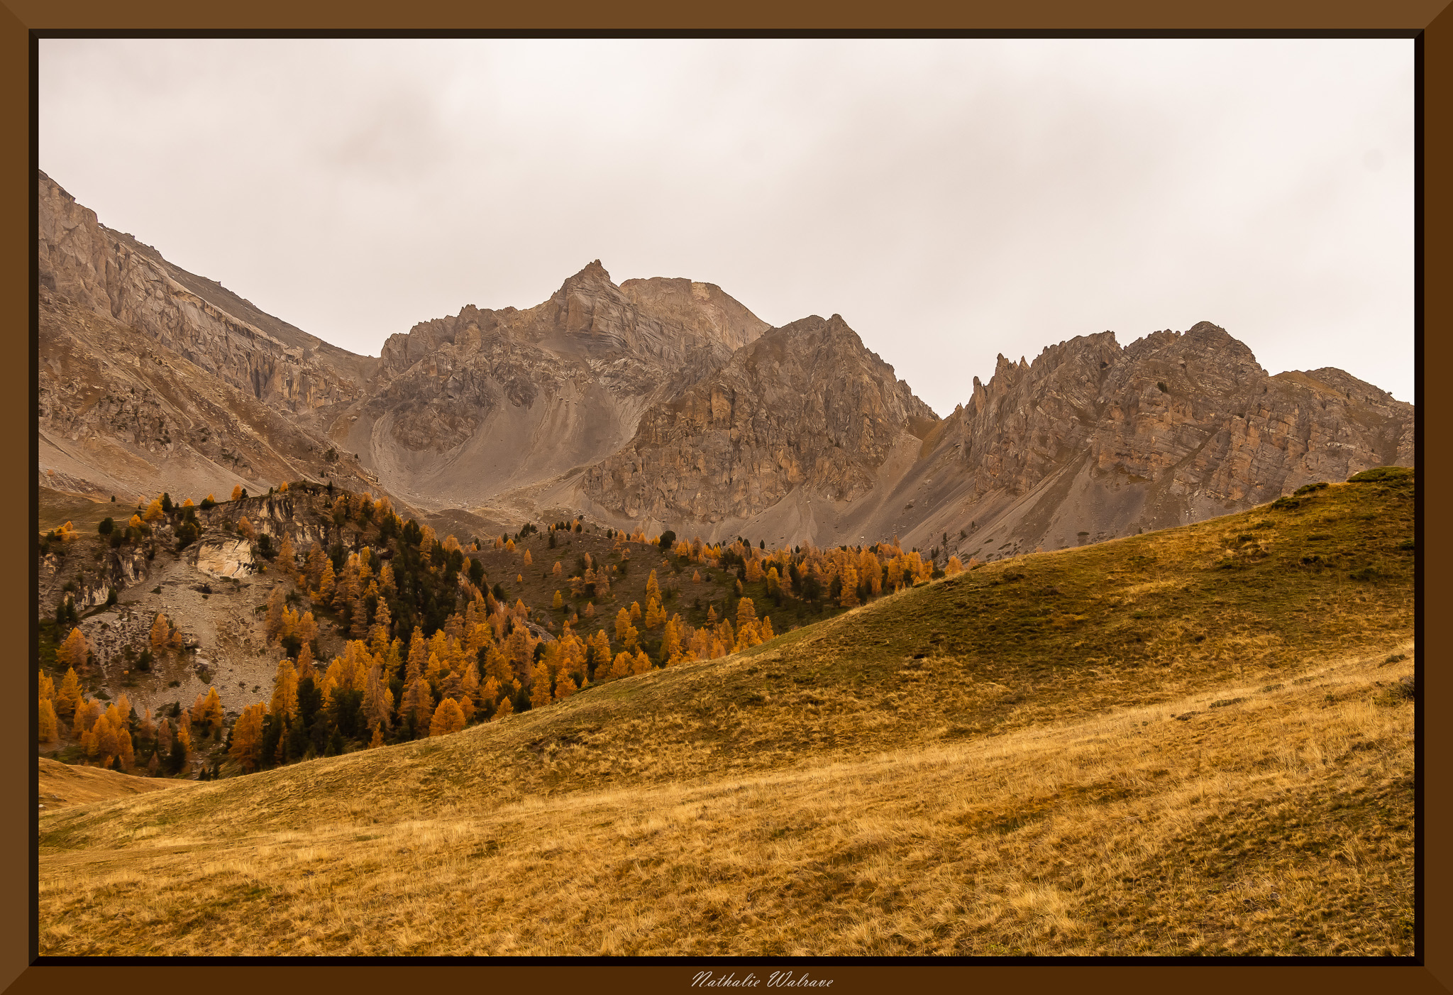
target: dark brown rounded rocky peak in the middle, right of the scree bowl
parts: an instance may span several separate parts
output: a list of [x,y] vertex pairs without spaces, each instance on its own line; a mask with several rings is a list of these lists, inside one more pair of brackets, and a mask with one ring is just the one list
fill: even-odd
[[606,508],[671,521],[750,517],[798,487],[849,503],[873,488],[897,443],[934,421],[841,317],[814,315],[647,410],[584,487]]

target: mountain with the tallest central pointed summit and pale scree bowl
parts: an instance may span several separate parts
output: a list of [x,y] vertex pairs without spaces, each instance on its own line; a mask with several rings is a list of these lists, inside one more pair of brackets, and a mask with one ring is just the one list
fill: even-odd
[[767,327],[715,285],[616,286],[596,260],[527,311],[469,305],[389,337],[333,434],[410,500],[481,505],[610,456]]

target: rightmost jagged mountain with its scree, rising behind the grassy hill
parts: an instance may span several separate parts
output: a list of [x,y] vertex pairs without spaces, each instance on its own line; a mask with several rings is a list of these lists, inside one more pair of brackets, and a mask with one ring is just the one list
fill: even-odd
[[1411,465],[1412,415],[1341,370],[1268,376],[1206,321],[1125,349],[1112,333],[1078,337],[975,378],[930,460],[962,478],[956,514],[926,535],[968,519],[965,548],[991,556],[1225,514]]

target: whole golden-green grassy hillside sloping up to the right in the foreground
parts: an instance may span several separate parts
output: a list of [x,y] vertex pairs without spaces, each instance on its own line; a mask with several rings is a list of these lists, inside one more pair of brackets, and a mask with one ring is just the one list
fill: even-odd
[[42,813],[41,950],[1409,953],[1412,474]]

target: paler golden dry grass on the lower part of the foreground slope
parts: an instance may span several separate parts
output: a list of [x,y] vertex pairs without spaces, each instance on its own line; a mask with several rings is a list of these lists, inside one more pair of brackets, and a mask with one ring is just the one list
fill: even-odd
[[[112,848],[42,851],[41,947],[1405,954],[1412,709],[1377,699],[1411,661],[1379,659],[975,742],[423,819],[298,808],[286,829],[256,799],[169,835],[139,800]],[[1244,700],[1209,707],[1228,699]]]

